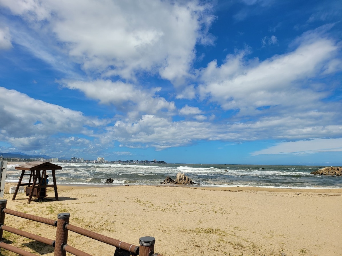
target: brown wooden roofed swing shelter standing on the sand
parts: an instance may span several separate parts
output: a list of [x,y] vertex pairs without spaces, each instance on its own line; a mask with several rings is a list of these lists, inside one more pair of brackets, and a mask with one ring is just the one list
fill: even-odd
[[[15,169],[22,170],[22,174],[18,181],[18,185],[14,191],[12,200],[15,200],[15,197],[17,196],[20,186],[27,186],[26,195],[29,196],[27,203],[31,202],[32,196],[39,197],[42,188],[44,188],[45,196],[46,196],[46,189],[48,187],[54,188],[55,199],[56,201],[58,201],[55,170],[62,170],[61,166],[54,165],[53,163],[50,163],[50,162],[29,162],[29,163],[24,163],[23,165],[16,166]],[[51,170],[52,172],[53,184],[51,185],[44,184],[43,182],[43,180],[45,179],[47,170]],[[30,171],[30,173],[25,173],[25,171]],[[22,183],[24,175],[30,176],[28,183]]]

